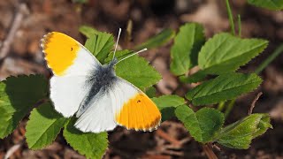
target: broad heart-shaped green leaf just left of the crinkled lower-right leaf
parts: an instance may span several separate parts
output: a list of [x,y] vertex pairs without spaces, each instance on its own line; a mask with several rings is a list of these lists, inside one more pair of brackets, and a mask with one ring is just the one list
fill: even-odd
[[202,143],[212,141],[224,123],[223,113],[215,109],[203,108],[195,113],[187,105],[181,105],[175,113],[191,136]]

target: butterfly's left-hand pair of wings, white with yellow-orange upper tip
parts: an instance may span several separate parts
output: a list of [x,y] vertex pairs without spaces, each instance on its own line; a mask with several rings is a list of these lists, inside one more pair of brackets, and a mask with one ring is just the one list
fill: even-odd
[[71,117],[88,93],[85,87],[88,74],[101,64],[80,42],[62,33],[44,35],[41,46],[54,73],[50,79],[50,99],[55,110]]

